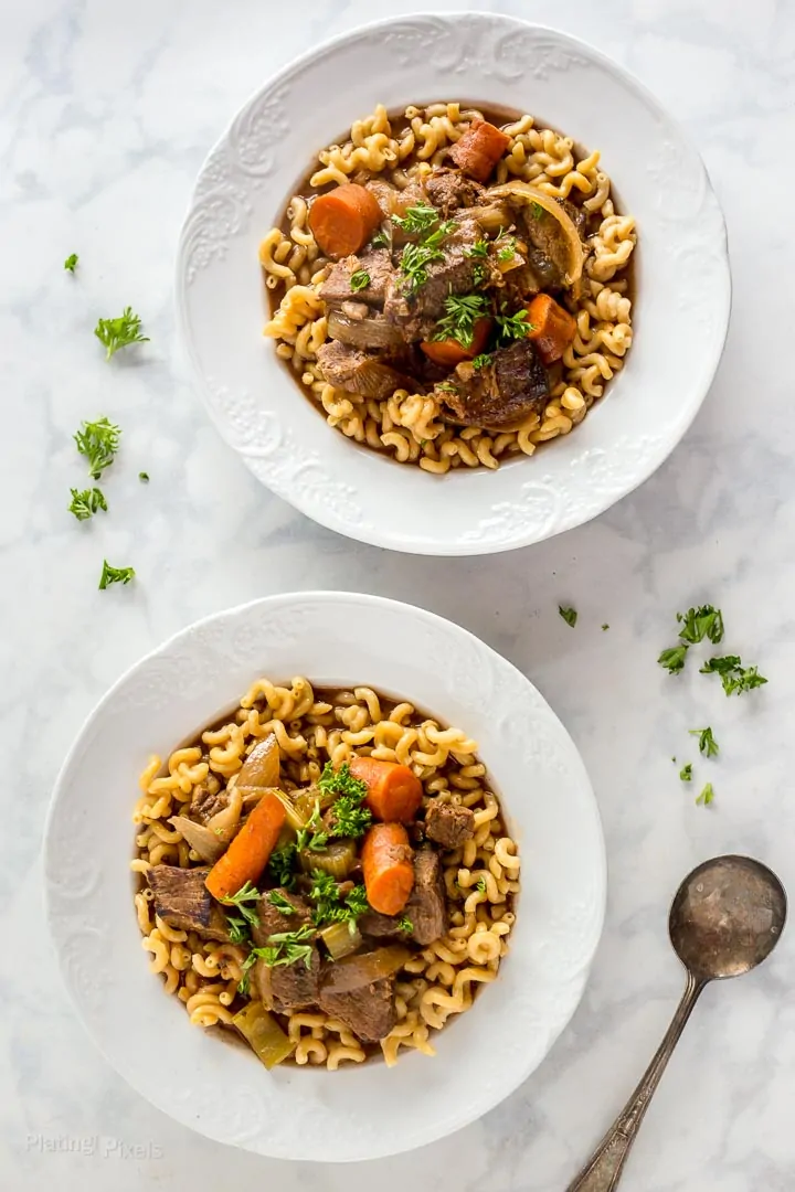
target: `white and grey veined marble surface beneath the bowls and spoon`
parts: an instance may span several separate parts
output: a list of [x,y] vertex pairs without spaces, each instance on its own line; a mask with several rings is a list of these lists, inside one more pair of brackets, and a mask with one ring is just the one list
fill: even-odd
[[[716,381],[673,458],[597,522],[485,564],[358,546],[262,490],[190,392],[175,352],[172,268],[206,149],[275,67],[331,33],[416,7],[0,2],[4,1188],[558,1192],[623,1103],[679,995],[666,913],[681,876],[713,853],[747,851],[795,890],[793,248],[782,201],[795,188],[791,5],[758,0],[752,13],[740,0],[477,5],[557,24],[640,75],[700,143],[727,215],[735,297]],[[62,269],[73,250],[74,278]],[[108,366],[92,328],[126,303],[151,342]],[[100,414],[123,426],[124,451],[105,485],[111,513],[77,524],[66,511],[69,486],[85,483],[72,434]],[[98,591],[104,555],[133,564],[137,584]],[[610,863],[592,980],[541,1070],[464,1134],[346,1169],[232,1153],[150,1109],[77,1025],[42,918],[52,781],[101,693],[197,616],[316,586],[424,604],[521,666],[583,752]],[[702,600],[722,606],[727,645],[769,676],[763,691],[729,702],[695,668],[672,679],[656,665],[675,611]],[[576,629],[558,602],[579,609]],[[716,762],[698,762],[687,737],[703,724],[721,744]],[[673,755],[696,760],[692,787],[679,783]],[[694,796],[708,777],[715,802],[704,809]],[[87,836],[86,848],[101,840]],[[627,1192],[793,1187],[794,977],[790,929],[765,969],[707,992],[650,1110]]]

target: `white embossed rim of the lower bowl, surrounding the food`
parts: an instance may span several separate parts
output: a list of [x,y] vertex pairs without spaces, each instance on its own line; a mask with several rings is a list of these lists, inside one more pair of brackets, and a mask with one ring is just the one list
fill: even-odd
[[[163,994],[132,904],[137,776],[260,675],[367,683],[474,737],[523,853],[499,977],[434,1039],[437,1055],[268,1073],[191,1026]],[[99,1048],[148,1100],[219,1142],[279,1159],[375,1159],[485,1113],[545,1057],[577,1006],[604,914],[598,812],[554,713],[510,663],[408,604],[272,596],[207,617],[139,662],[88,718],[46,825],[48,915],[67,987]],[[350,1112],[350,1105],[364,1112]]]

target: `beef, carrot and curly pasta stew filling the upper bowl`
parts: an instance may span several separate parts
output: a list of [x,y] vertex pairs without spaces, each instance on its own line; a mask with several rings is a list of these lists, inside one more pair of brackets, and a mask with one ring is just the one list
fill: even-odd
[[530,455],[632,343],[632,216],[532,116],[383,106],[260,246],[265,334],[330,426],[429,472]]

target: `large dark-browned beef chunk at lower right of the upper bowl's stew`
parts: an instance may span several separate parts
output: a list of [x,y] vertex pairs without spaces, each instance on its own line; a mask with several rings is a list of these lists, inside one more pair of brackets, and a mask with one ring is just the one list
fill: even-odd
[[549,377],[530,340],[517,340],[493,353],[491,362],[474,368],[458,365],[454,389],[436,389],[465,426],[510,430],[530,414],[541,414],[549,396]]

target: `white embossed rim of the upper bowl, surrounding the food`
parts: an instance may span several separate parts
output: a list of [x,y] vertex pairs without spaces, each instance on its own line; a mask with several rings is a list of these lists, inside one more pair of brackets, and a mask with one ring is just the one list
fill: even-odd
[[[333,430],[263,341],[257,244],[313,154],[377,103],[465,99],[538,114],[602,150],[638,222],[635,342],[565,439],[498,472],[445,477]],[[180,240],[178,323],[197,387],[263,484],[341,534],[418,554],[486,554],[589,521],[684,435],[728,325],[726,229],[707,172],[659,103],[597,50],[497,13],[399,17],[311,51],[235,117]]]

